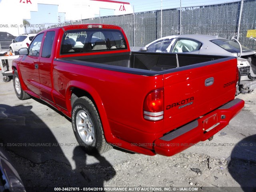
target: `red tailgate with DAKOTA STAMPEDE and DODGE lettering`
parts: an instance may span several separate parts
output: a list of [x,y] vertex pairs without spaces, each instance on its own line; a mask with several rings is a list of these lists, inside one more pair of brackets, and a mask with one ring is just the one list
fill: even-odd
[[182,126],[234,99],[236,58],[176,68],[164,74],[164,130]]

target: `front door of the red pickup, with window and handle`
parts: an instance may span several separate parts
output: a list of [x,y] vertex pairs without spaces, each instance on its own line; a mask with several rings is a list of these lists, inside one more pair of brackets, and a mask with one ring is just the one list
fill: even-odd
[[29,53],[20,60],[20,72],[29,90],[40,95],[39,62],[44,33],[38,34],[29,46]]

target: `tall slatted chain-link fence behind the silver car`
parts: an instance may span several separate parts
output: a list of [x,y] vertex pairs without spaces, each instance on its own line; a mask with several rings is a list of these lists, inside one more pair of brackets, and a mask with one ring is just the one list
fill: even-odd
[[[246,37],[247,30],[256,29],[256,0],[182,8],[181,24],[180,8],[162,10],[162,17],[161,11],[156,10],[122,16],[90,18],[65,24],[92,23],[121,26],[130,46],[145,46],[160,38],[161,33],[162,37],[181,33],[208,34],[231,39],[233,36],[237,37],[239,30],[241,44],[253,50],[256,49],[256,42]],[[52,25],[44,24],[44,28],[48,27]],[[0,43],[2,43],[1,39]]]

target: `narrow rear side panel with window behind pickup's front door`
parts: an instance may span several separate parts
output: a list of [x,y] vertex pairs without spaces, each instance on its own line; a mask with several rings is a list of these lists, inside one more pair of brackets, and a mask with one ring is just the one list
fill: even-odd
[[52,46],[54,43],[55,31],[48,31],[44,39],[42,56],[40,58],[40,92],[41,96],[50,102],[52,99]]

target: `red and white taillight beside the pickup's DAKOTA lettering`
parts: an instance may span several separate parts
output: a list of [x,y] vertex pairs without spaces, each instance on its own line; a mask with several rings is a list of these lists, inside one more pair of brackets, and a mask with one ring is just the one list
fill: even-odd
[[143,106],[144,119],[158,121],[164,118],[164,90],[154,90],[150,92]]

